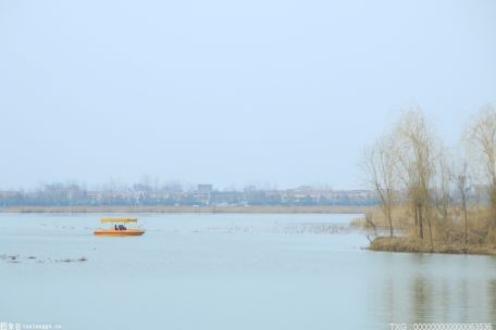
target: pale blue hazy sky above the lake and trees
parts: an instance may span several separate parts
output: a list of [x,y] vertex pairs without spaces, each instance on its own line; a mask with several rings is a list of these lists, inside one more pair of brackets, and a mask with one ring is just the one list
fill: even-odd
[[0,189],[359,188],[401,110],[455,143],[487,103],[494,0],[0,0]]

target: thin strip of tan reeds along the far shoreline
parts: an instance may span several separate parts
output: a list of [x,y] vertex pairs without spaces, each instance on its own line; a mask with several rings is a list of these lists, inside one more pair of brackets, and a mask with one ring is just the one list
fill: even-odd
[[8,206],[0,213],[364,214],[369,206]]

